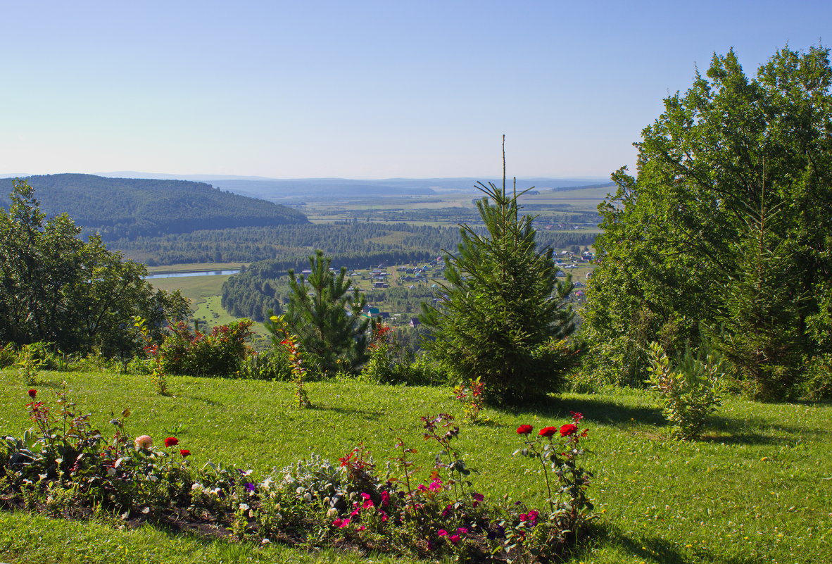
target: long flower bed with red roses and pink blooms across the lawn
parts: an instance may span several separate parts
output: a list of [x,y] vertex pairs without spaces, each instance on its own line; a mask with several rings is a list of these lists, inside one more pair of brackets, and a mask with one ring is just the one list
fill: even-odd
[[533,434],[522,425],[518,453],[542,465],[547,507],[489,499],[474,487],[473,470],[456,448],[460,430],[441,413],[422,419],[423,439],[436,446],[427,475],[401,438],[379,471],[359,445],[336,463],[316,455],[270,475],[234,466],[191,466],[176,437],[126,433],[113,418],[105,439],[88,415],[77,415],[66,392],[49,406],[27,404],[35,428],[4,437],[0,490],[7,505],[63,517],[106,512],[126,521],[165,522],[215,535],[268,544],[314,543],[397,553],[454,557],[458,562],[546,562],[561,555],[592,519],[590,474],[580,467],[587,430],[572,423]]

